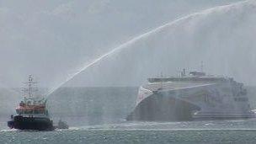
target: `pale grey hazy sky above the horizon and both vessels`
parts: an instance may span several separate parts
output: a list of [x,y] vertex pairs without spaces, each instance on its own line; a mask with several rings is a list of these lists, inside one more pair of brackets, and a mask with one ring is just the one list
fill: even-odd
[[[18,87],[29,74],[52,88],[116,46],[207,8],[235,0],[0,1],[0,83]],[[140,85],[183,67],[248,84],[255,63],[255,1],[184,19],[128,45],[68,86]]]

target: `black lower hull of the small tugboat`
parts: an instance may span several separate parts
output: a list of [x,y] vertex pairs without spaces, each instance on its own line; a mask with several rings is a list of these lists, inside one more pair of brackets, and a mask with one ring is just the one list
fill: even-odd
[[24,117],[16,115],[13,120],[8,121],[8,127],[19,130],[37,130],[37,131],[53,131],[54,126],[49,118],[44,117]]

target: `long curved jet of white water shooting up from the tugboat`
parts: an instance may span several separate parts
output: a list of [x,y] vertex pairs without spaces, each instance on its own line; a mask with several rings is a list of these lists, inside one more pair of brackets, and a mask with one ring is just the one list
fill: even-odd
[[[219,6],[216,8],[209,8],[206,9],[204,11],[201,11],[199,13],[192,13],[189,14],[183,18],[180,19],[176,19],[168,24],[163,24],[160,27],[157,27],[156,29],[152,29],[151,31],[136,36],[135,38],[125,42],[122,45],[119,45],[117,47],[115,47],[113,50],[105,53],[102,56],[99,56],[98,58],[94,59],[93,61],[90,61],[89,63],[87,62],[86,65],[84,65],[83,67],[79,68],[76,72],[70,74],[67,79],[65,79],[63,82],[59,83],[56,87],[51,88],[51,90],[49,91],[49,93],[46,94],[46,97],[49,97],[49,95],[51,95],[51,93],[55,92],[57,88],[60,88],[62,85],[64,85],[65,83],[67,83],[68,81],[70,81],[73,77],[76,77],[79,73],[85,71],[86,69],[88,69],[88,67],[93,67],[94,64],[98,63],[99,61],[103,61],[105,58],[115,54],[117,51],[122,51],[125,48],[131,48],[131,45],[136,44],[136,42],[141,41],[141,40],[146,40],[148,37],[152,36],[152,35],[157,35],[161,32],[164,32],[165,30],[168,30],[172,27],[175,27],[179,24],[182,23],[189,23],[189,21],[195,20],[197,18],[200,17],[205,17],[207,18],[211,13],[220,13],[220,12],[229,12],[229,11],[237,11],[239,10],[239,8],[243,8],[244,5],[248,5],[248,7],[255,7],[255,1],[244,1],[244,2],[239,2],[239,3],[232,3],[229,5],[225,5],[225,6]],[[222,14],[222,13],[221,13]],[[225,14],[225,13],[224,13]]]

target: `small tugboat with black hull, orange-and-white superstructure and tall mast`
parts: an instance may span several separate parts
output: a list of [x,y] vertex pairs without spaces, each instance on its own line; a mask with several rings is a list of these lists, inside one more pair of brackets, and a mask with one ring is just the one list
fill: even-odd
[[46,109],[46,99],[33,96],[35,82],[33,82],[31,75],[29,75],[29,82],[26,84],[29,88],[24,88],[24,100],[16,108],[17,115],[11,115],[8,127],[19,130],[53,131],[55,126],[53,126]]

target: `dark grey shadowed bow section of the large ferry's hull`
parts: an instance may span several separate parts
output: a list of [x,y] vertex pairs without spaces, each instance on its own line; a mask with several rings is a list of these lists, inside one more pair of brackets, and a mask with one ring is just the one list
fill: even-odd
[[184,121],[193,120],[193,111],[200,110],[195,104],[180,99],[154,94],[141,101],[126,120]]

